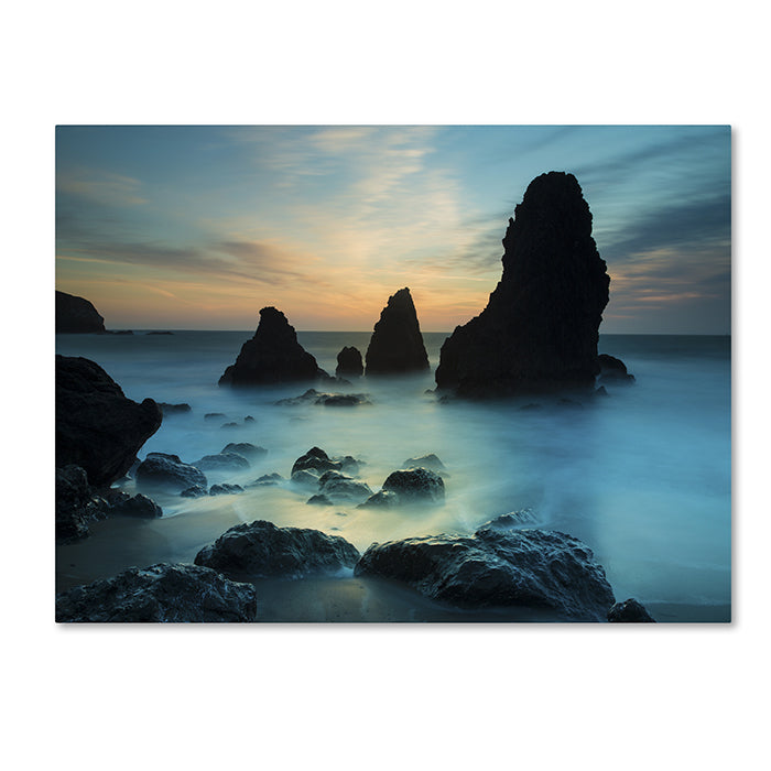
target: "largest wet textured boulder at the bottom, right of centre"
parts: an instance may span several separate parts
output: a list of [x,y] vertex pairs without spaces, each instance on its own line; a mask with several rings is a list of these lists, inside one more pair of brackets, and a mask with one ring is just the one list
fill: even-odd
[[591,551],[564,533],[480,529],[370,546],[357,576],[403,582],[431,599],[463,608],[551,608],[574,621],[604,621],[615,602]]

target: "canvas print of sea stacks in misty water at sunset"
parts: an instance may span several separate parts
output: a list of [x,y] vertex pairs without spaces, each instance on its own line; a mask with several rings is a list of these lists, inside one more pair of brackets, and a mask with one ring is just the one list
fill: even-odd
[[727,126],[61,126],[58,622],[729,622]]

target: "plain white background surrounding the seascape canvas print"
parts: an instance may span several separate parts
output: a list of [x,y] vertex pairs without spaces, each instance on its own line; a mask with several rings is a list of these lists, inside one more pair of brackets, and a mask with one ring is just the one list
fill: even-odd
[[[75,0],[4,9],[7,768],[762,764],[762,8]],[[346,122],[734,126],[732,625],[54,625],[54,126]]]

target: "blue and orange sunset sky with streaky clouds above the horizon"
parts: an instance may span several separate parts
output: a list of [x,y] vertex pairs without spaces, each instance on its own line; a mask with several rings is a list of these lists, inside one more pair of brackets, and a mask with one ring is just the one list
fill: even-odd
[[600,333],[729,334],[727,126],[59,126],[56,289],[108,329],[424,332],[477,315],[528,184],[573,173],[610,274]]

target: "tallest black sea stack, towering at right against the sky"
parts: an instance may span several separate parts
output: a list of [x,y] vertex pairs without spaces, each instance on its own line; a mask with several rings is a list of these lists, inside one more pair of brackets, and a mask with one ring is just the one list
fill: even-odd
[[442,346],[437,387],[468,397],[591,388],[610,278],[573,174],[530,183],[503,248],[487,307]]

